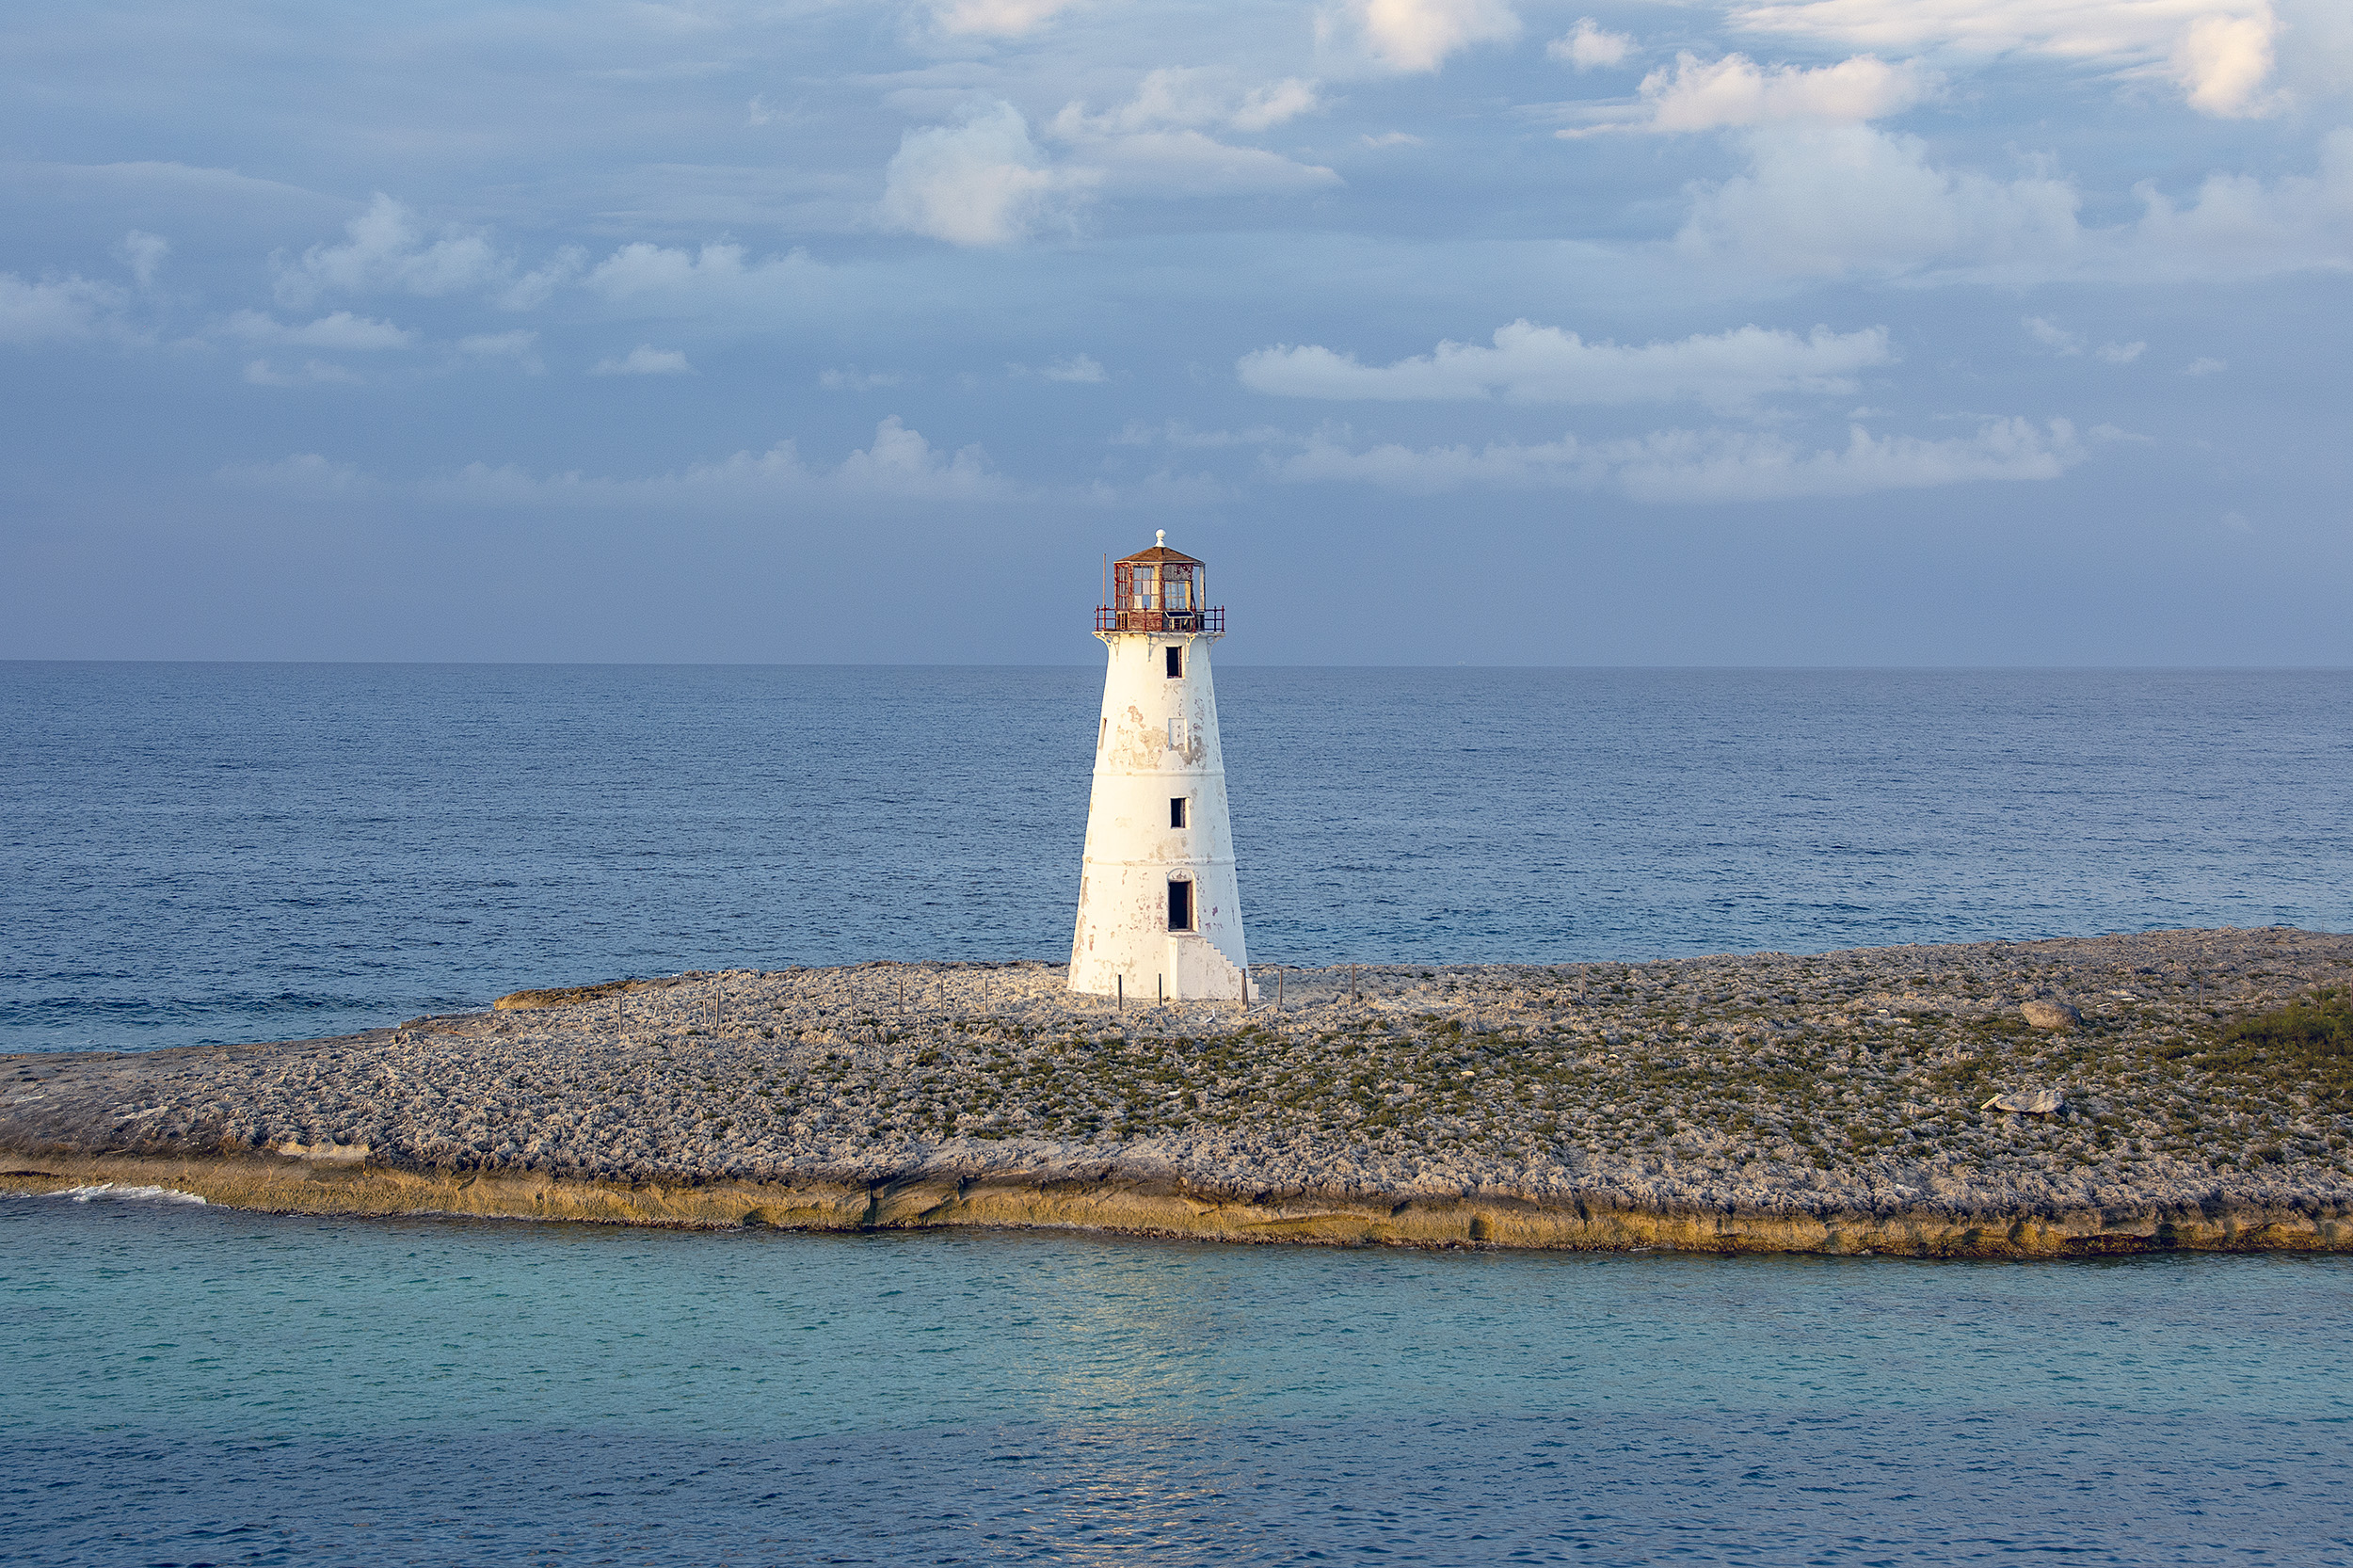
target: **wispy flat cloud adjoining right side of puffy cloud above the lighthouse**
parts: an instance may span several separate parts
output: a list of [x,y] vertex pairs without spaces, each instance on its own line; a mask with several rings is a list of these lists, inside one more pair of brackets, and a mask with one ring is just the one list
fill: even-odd
[[1153,71],[1136,97],[1101,115],[1066,104],[1049,132],[1087,160],[1094,179],[1153,195],[1224,195],[1337,186],[1339,174],[1254,146],[1217,141],[1202,127],[1259,132],[1322,108],[1315,82],[1282,78],[1254,89],[1214,71]]

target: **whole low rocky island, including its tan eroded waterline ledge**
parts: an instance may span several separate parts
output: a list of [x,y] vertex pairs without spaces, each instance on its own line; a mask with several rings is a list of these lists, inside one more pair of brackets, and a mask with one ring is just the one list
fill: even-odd
[[1217,1241],[2353,1250],[2353,1064],[2226,1041],[2353,979],[2344,935],[1259,979],[1249,1010],[1122,1012],[1035,963],[678,975],[332,1041],[5,1057],[0,1189]]

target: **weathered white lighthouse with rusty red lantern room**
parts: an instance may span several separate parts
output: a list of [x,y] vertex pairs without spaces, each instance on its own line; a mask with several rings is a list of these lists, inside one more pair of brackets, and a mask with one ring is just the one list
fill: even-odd
[[1226,610],[1205,589],[1207,567],[1160,530],[1111,565],[1094,610],[1111,662],[1071,937],[1071,989],[1087,996],[1252,996],[1209,680]]

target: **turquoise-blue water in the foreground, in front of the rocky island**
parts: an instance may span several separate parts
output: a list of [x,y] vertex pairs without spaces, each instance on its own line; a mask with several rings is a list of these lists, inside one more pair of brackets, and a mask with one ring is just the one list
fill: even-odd
[[0,1556],[2353,1561],[2353,1262],[0,1203]]

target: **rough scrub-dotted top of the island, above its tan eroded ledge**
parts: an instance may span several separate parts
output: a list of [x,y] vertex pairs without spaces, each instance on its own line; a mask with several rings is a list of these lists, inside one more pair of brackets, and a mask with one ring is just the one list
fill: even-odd
[[[1118,1158],[1645,1201],[2353,1196],[2348,972],[2353,937],[2155,932],[1308,970],[1280,1012],[1122,1012],[1047,965],[692,975],[621,1005],[122,1057],[96,1125],[115,1147],[332,1142],[633,1180]],[[2038,996],[2080,1026],[2028,1026]],[[1981,1109],[2031,1088],[2066,1109]]]

